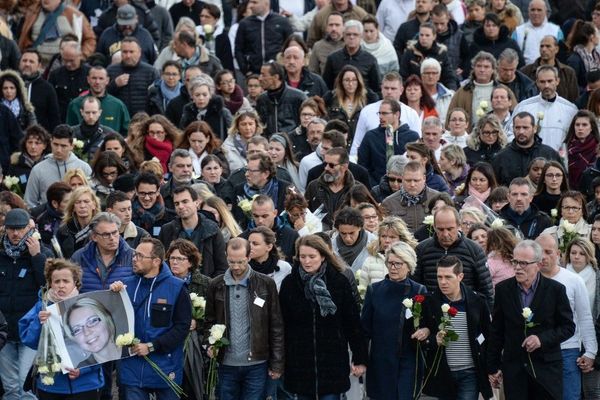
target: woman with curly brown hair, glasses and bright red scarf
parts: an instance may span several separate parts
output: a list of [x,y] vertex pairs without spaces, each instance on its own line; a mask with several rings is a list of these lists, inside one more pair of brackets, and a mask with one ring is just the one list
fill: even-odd
[[140,123],[139,132],[130,136],[130,147],[138,164],[156,157],[168,171],[169,157],[179,146],[181,132],[164,116],[157,114]]

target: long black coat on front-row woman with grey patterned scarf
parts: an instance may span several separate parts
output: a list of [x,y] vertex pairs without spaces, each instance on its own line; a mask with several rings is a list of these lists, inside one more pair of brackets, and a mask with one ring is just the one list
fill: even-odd
[[354,365],[367,365],[368,360],[358,304],[348,279],[327,265],[324,281],[337,311],[321,316],[316,303],[304,295],[299,268],[284,278],[279,291],[285,328],[285,389],[312,398],[346,392],[350,388],[348,345]]

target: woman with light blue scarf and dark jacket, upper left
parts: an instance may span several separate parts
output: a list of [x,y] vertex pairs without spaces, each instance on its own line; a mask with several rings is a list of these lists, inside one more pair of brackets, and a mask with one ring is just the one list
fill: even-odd
[[161,68],[161,77],[148,88],[149,115],[163,114],[171,100],[181,94],[181,65],[177,61],[169,60]]

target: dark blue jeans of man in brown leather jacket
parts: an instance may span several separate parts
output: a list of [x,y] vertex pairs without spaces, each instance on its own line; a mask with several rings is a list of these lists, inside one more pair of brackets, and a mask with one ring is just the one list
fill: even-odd
[[266,386],[266,362],[243,367],[219,366],[220,400],[262,400]]

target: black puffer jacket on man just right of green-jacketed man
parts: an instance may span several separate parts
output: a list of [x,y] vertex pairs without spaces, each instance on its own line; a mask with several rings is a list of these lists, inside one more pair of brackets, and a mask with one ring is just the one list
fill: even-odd
[[[113,64],[107,68],[110,83],[108,93],[117,97],[127,106],[129,115],[146,110],[148,88],[159,78],[158,71],[150,64],[140,61],[135,67]],[[117,87],[115,79],[121,74],[129,74],[129,83]]]

